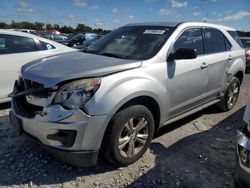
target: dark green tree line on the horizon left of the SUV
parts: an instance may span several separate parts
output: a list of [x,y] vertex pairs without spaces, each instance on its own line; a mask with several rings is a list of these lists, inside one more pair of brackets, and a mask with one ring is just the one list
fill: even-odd
[[33,30],[57,30],[61,33],[75,33],[75,32],[94,32],[97,34],[105,35],[110,32],[110,30],[104,30],[102,28],[91,28],[85,24],[79,23],[75,28],[71,26],[60,26],[58,24],[50,24],[43,22],[15,22],[12,21],[10,24],[5,22],[0,22],[0,29],[33,29]]

